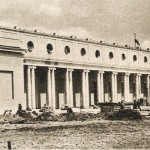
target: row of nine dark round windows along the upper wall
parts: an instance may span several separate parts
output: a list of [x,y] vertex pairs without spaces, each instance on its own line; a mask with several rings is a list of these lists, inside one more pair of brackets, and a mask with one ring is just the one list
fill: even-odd
[[[28,51],[29,51],[29,52],[32,52],[33,49],[34,49],[34,43],[33,43],[32,41],[29,41],[29,42],[27,43],[27,47],[28,47]],[[47,53],[50,55],[50,54],[52,53],[52,51],[53,51],[53,46],[52,46],[52,44],[50,44],[50,43],[47,44],[46,48],[47,48]],[[66,55],[68,55],[68,54],[70,53],[70,47],[69,47],[69,46],[65,46],[65,47],[64,47],[64,52],[65,52]],[[85,50],[85,48],[81,48],[81,51],[80,51],[80,52],[81,52],[81,56],[86,55],[86,50]],[[96,51],[95,51],[95,57],[96,57],[96,58],[100,57],[100,51],[99,51],[99,50],[96,50]],[[109,52],[109,59],[113,59],[113,58],[114,58],[113,52]],[[126,59],[126,55],[123,53],[123,54],[121,55],[121,58],[122,58],[122,60],[125,60],[125,59]],[[133,55],[133,61],[134,61],[134,62],[137,61],[137,56],[136,56],[136,55]],[[146,56],[144,56],[144,63],[147,63],[147,62],[148,62],[148,59],[147,59]]]

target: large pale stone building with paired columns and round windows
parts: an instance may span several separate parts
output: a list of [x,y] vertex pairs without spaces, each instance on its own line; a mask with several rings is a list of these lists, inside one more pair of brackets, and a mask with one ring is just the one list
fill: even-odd
[[150,51],[0,27],[0,113],[23,108],[88,108],[150,102]]

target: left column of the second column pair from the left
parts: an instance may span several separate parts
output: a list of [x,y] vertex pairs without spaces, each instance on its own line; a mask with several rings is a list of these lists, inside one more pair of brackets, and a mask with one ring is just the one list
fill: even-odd
[[48,68],[47,72],[47,103],[48,106],[52,106],[52,76],[51,76],[51,68]]

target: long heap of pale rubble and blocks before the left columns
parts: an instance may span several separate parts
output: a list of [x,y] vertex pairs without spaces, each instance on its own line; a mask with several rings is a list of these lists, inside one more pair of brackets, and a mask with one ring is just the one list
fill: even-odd
[[27,108],[22,110],[22,106],[19,104],[18,111],[16,113],[22,119],[11,121],[10,123],[22,124],[22,123],[36,123],[37,121],[85,121],[94,118],[101,118],[100,108],[64,108],[62,110],[53,110],[50,107],[44,106],[40,110],[31,110]]

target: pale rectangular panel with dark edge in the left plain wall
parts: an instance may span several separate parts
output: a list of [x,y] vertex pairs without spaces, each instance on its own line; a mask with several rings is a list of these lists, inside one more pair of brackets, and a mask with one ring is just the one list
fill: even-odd
[[14,99],[13,72],[0,71],[0,98]]

